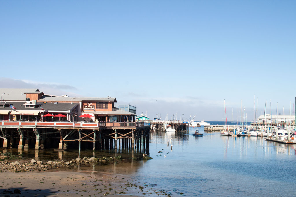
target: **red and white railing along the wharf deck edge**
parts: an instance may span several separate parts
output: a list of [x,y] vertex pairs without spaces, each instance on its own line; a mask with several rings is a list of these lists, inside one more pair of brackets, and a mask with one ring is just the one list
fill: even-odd
[[142,127],[150,126],[144,122],[41,122],[41,121],[0,121],[1,126],[32,126],[32,127],[73,127],[73,128],[100,128],[100,127]]

